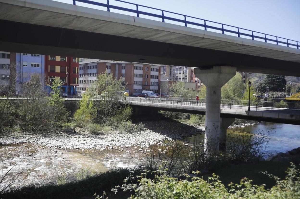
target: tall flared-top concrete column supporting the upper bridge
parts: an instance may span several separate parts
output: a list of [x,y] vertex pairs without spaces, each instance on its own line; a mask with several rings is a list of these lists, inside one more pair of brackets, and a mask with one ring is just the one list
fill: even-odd
[[212,152],[218,153],[221,87],[236,74],[236,68],[231,66],[197,68],[194,69],[194,74],[206,86],[205,143]]

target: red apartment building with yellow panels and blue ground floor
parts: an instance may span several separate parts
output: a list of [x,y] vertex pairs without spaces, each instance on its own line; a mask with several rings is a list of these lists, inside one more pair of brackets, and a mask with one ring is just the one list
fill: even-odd
[[79,59],[77,57],[45,55],[45,73],[49,83],[54,78],[61,80],[64,82],[62,92],[76,95],[79,83]]

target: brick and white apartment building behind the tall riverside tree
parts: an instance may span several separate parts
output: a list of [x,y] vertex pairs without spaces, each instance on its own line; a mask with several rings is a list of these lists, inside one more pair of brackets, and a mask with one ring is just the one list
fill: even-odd
[[101,73],[112,73],[122,79],[129,95],[137,95],[143,90],[159,92],[160,67],[158,64],[87,59],[79,64],[78,91],[85,91]]

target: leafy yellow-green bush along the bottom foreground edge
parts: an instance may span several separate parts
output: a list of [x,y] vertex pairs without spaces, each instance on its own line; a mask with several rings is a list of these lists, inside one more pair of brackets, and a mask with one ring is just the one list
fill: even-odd
[[[208,181],[203,178],[185,174],[185,180],[178,180],[174,177],[167,176],[164,172],[158,171],[154,179],[146,177],[146,171],[138,176],[138,183],[131,183],[133,177],[127,177],[121,189],[124,191],[132,190],[135,195],[131,195],[131,199],[188,199],[188,198],[260,198],[260,199],[277,199],[277,198],[300,198],[300,170],[291,164],[288,168],[287,175],[284,180],[274,177],[277,181],[276,185],[271,189],[265,189],[265,185],[257,186],[252,184],[252,180],[243,178],[239,184],[229,184],[230,189],[226,189],[225,185],[219,180],[219,177],[213,174]],[[194,172],[196,175],[199,172]],[[128,184],[127,184],[128,183]],[[117,186],[113,191],[117,192]]]

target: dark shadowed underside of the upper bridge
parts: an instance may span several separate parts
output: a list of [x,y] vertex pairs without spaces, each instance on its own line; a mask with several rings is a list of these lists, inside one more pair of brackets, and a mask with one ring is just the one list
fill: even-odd
[[[299,63],[151,40],[0,20],[0,50],[300,76]],[[22,31],[30,30],[30,31]]]

